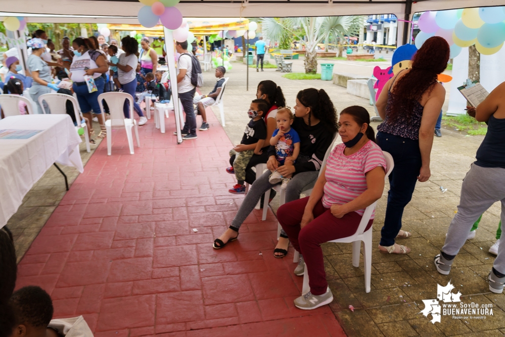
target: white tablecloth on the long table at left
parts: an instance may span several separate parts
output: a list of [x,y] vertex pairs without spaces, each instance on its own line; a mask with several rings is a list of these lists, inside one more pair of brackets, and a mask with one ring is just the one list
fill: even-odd
[[0,139],[0,228],[53,163],[84,171],[81,138],[69,115],[11,116],[0,120],[0,130],[6,129],[43,131],[28,139]]

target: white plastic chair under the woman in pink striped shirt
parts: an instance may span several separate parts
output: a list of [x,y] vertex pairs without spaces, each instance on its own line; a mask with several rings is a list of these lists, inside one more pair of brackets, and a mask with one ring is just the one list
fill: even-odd
[[[393,170],[394,162],[393,157],[383,151],[384,159],[386,159],[386,179],[389,174]],[[367,231],[364,231],[366,225],[370,221],[372,217],[372,213],[375,210],[375,206],[377,205],[377,201],[372,205],[365,208],[363,216],[361,217],[361,221],[359,222],[358,229],[354,233],[354,235],[342,237],[336,240],[331,240],[329,242],[335,243],[352,243],[352,265],[354,267],[359,267],[359,253],[361,251],[361,241],[363,242],[363,260],[364,260],[364,274],[365,274],[365,292],[370,293],[370,278],[372,274],[372,227]],[[303,286],[302,286],[302,294],[306,294],[310,291],[309,286],[309,277],[307,272],[307,264],[305,264],[305,271],[303,274]]]

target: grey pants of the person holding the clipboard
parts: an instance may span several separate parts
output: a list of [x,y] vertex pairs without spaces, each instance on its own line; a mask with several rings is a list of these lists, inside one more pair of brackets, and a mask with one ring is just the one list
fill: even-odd
[[[442,252],[456,255],[463,247],[474,222],[495,202],[501,201],[501,224],[505,223],[505,169],[472,164],[461,186],[460,205],[452,219]],[[501,228],[503,230],[503,228]],[[494,269],[505,273],[505,244],[498,247]]]

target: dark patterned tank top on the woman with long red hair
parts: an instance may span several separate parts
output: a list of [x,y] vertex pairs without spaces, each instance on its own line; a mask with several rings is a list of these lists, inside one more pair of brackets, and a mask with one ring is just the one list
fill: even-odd
[[[398,78],[398,77],[396,77]],[[396,78],[393,80],[396,80]],[[414,111],[410,118],[406,118],[404,115],[398,116],[394,121],[391,121],[389,115],[391,113],[391,107],[396,103],[396,95],[391,92],[393,83],[388,90],[388,104],[386,106],[386,118],[382,122],[377,130],[381,132],[386,132],[393,134],[395,136],[408,138],[412,140],[419,140],[419,129],[421,128],[421,118],[423,117],[424,107],[418,101],[415,101]]]

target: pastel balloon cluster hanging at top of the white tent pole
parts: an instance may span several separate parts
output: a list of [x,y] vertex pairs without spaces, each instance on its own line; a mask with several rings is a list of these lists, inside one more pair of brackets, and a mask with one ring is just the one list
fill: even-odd
[[142,7],[137,15],[141,25],[152,28],[161,21],[167,29],[177,30],[182,24],[182,14],[174,6],[180,0],[139,0]]

